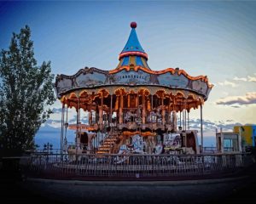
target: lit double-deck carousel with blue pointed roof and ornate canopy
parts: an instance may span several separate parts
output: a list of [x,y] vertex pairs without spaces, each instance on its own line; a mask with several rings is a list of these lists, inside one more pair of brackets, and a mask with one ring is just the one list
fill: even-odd
[[[202,106],[212,84],[179,68],[153,71],[137,38],[137,24],[113,70],[85,67],[73,76],[58,75],[55,91],[61,100],[61,152],[75,154],[161,154],[203,147]],[[68,124],[68,109],[77,122]],[[189,128],[191,110],[201,111],[198,131]],[[84,117],[84,118],[82,118]],[[67,128],[75,130],[67,145]]]

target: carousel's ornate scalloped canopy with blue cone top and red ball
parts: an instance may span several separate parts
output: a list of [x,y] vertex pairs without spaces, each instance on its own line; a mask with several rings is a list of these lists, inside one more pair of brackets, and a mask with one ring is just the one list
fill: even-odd
[[85,67],[73,76],[58,75],[55,79],[55,90],[58,99],[69,107],[80,107],[84,110],[94,109],[93,101],[103,98],[105,109],[109,107],[109,96],[137,94],[147,90],[148,95],[163,98],[163,105],[170,106],[172,111],[197,108],[207,100],[213,85],[206,76],[191,77],[179,68],[167,68],[152,71],[148,66],[148,54],[143,50],[137,38],[137,24],[131,23],[131,34],[125,48],[119,54],[119,65],[110,71],[95,67]]

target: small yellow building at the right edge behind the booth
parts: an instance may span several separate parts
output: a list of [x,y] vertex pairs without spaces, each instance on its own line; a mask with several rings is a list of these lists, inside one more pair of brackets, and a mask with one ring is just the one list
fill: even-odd
[[242,147],[256,146],[256,125],[235,126],[234,133],[241,133]]

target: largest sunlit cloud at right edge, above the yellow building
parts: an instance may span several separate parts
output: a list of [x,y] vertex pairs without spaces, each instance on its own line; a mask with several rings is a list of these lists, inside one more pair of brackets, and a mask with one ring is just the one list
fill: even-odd
[[[217,105],[251,105],[256,103],[256,92],[248,92],[244,96],[228,96],[216,101]],[[236,106],[234,106],[236,107]]]

